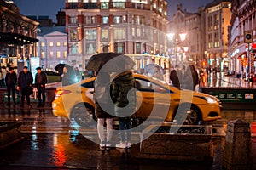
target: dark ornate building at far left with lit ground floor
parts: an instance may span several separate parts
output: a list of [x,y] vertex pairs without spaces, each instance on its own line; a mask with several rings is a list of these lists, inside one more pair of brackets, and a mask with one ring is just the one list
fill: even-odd
[[31,66],[30,59],[36,56],[38,24],[20,14],[20,8],[12,1],[0,0],[1,66]]

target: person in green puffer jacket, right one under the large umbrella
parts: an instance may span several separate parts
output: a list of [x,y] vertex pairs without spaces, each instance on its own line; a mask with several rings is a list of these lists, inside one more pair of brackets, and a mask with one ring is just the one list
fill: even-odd
[[120,143],[117,148],[131,148],[131,116],[136,111],[136,82],[130,70],[118,74],[112,82],[115,116],[119,119]]

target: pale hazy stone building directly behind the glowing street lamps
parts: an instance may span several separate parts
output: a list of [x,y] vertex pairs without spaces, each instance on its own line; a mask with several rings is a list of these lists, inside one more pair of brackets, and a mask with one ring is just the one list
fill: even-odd
[[[189,61],[201,66],[206,50],[205,30],[204,8],[198,8],[196,13],[189,13],[183,9],[182,4],[178,4],[177,13],[173,15],[169,27],[169,33],[174,34],[170,40],[173,42],[170,45],[173,59],[177,59],[177,62]],[[180,33],[186,34],[184,41],[179,38]]]

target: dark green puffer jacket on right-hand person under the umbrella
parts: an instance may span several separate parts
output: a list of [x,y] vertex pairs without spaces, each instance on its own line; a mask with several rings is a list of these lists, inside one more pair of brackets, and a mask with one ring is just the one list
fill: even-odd
[[[113,79],[112,95],[114,101],[114,110],[116,116],[131,116],[136,108],[136,91],[130,91],[136,88],[136,82],[132,75],[132,71],[125,71]],[[129,92],[129,100],[127,94]],[[125,106],[128,108],[122,110]],[[126,112],[126,113],[125,113]]]

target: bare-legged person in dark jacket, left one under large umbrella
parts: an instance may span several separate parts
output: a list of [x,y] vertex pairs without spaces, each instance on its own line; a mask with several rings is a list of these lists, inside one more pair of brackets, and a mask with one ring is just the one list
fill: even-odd
[[[97,132],[101,140],[100,148],[111,147],[113,135],[113,102],[110,96],[110,75],[107,72],[100,72],[94,83],[93,99],[96,104],[95,115],[97,118]],[[106,122],[107,134],[104,133],[104,123]]]

